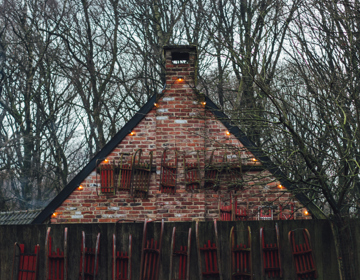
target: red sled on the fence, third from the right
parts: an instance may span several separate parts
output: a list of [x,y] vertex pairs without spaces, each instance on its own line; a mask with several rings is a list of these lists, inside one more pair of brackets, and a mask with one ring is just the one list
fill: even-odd
[[234,227],[230,230],[231,279],[251,280],[251,229],[247,228],[247,244],[237,244]]

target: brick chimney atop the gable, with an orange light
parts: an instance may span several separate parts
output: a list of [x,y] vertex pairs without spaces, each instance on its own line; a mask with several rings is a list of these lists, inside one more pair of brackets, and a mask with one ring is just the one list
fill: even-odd
[[196,46],[165,46],[166,86],[182,84],[194,88],[197,82],[197,47]]

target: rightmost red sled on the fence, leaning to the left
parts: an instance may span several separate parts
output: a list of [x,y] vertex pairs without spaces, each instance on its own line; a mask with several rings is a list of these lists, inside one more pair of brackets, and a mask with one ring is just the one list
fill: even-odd
[[310,233],[306,228],[303,229],[303,236],[305,243],[296,244],[295,231],[289,231],[289,242],[296,266],[296,275],[299,280],[302,278],[316,279],[317,271],[313,251],[311,249]]

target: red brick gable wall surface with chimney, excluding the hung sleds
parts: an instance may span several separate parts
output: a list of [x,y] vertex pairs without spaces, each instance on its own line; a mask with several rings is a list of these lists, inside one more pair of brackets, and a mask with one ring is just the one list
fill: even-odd
[[[119,164],[122,153],[134,154],[137,149],[142,149],[142,160],[149,161],[149,152],[152,151],[156,171],[151,173],[147,197],[133,197],[128,190],[117,190],[115,195],[99,195],[100,175],[94,166],[81,188],[58,207],[51,223],[106,223],[145,218],[165,218],[168,221],[218,219],[220,207],[235,200],[239,208],[247,209],[250,220],[258,219],[260,207],[265,206],[271,206],[274,219],[278,219],[279,205],[291,209],[289,203],[294,205],[296,219],[308,218],[302,205],[285,189],[279,189],[279,182],[268,171],[259,170],[261,163],[253,162],[253,155],[238,139],[228,135],[221,121],[206,109],[205,99],[194,90],[196,53],[190,51],[189,63],[174,64],[172,51],[165,50],[165,90],[153,109],[106,158],[108,163]],[[182,80],[179,81],[178,77]],[[174,151],[177,151],[175,193],[161,192],[164,149],[168,149],[166,159],[172,164],[175,164]],[[209,165],[211,155],[216,166],[228,166],[225,161],[241,161],[244,169],[239,174],[241,188],[229,190],[231,175],[225,168],[219,173],[219,183],[207,183],[205,167]],[[130,156],[123,156],[123,159],[130,164]],[[202,180],[199,185],[186,185],[184,159],[187,164],[200,164]],[[290,212],[290,209],[283,211]]]

